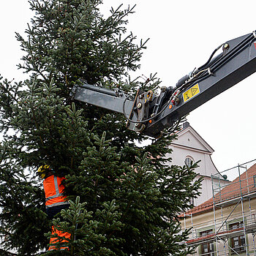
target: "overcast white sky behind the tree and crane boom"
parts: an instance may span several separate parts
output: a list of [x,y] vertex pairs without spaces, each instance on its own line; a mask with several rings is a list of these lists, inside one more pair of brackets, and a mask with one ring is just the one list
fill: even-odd
[[[138,75],[157,72],[162,86],[204,64],[222,42],[256,30],[256,1],[105,0],[102,12],[124,3],[135,8],[128,30],[150,38]],[[22,80],[15,67],[22,56],[15,31],[23,34],[31,18],[26,0],[0,1],[0,74]],[[192,111],[190,125],[214,148],[218,170],[256,159],[256,73]]]

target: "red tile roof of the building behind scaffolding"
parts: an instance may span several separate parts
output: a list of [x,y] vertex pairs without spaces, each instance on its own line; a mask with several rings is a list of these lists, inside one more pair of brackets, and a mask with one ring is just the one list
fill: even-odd
[[[241,195],[245,196],[251,194],[252,192],[256,192],[254,176],[256,176],[256,164],[252,165],[252,167],[250,167],[246,172],[242,173],[240,177],[238,176],[238,178],[225,186],[220,192],[214,195],[214,198],[211,197],[206,202],[200,204],[200,206],[196,206],[187,211],[186,215],[200,214],[204,211],[211,211],[214,207],[214,203],[220,203],[241,197]],[[181,214],[179,217],[184,217],[184,214]]]

